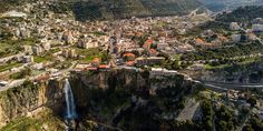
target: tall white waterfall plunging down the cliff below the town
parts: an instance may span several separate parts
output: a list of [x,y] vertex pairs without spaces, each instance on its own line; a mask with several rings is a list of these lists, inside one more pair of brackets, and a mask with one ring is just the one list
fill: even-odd
[[76,113],[76,105],[74,101],[74,93],[71,91],[71,87],[68,79],[66,79],[64,90],[65,90],[65,97],[66,97],[66,103],[67,103],[66,119],[69,119],[69,120],[76,119],[77,113]]

